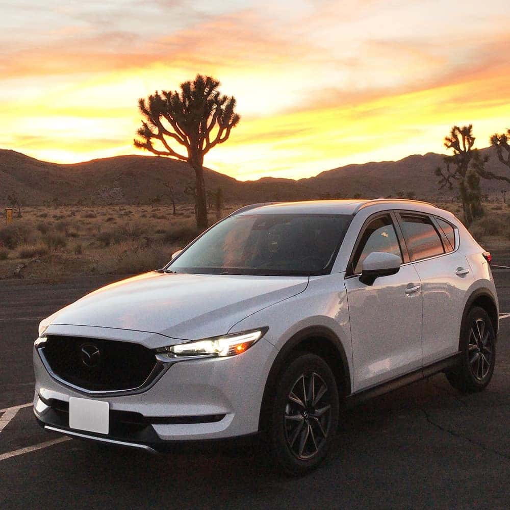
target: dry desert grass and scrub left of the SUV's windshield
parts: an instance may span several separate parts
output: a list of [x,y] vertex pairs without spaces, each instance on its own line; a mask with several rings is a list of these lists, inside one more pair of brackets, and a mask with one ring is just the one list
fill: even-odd
[[[233,206],[225,214],[237,209]],[[24,277],[49,280],[73,272],[133,274],[162,267],[198,234],[193,206],[29,207],[0,223],[0,278],[20,264]],[[215,215],[210,213],[211,222]]]

